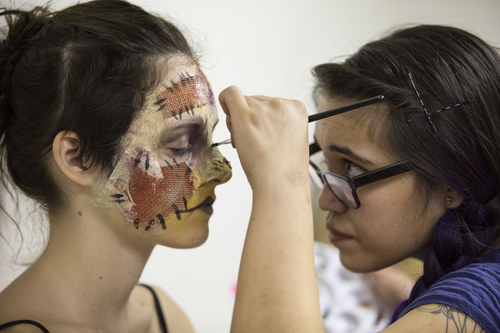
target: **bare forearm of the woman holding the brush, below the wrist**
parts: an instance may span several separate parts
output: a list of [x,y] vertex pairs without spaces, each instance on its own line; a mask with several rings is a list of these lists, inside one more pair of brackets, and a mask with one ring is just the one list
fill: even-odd
[[254,188],[231,332],[322,332],[304,173]]

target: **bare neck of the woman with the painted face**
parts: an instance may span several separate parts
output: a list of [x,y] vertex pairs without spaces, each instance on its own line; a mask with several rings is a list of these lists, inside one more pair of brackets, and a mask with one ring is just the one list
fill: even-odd
[[122,321],[154,244],[90,205],[72,204],[49,220],[47,247],[31,268],[44,281],[38,289],[59,302],[70,322]]

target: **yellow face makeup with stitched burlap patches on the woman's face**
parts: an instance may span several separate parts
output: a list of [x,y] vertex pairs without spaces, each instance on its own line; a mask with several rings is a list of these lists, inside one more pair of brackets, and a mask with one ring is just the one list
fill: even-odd
[[229,162],[211,147],[217,109],[195,62],[169,70],[124,139],[124,153],[107,183],[109,199],[136,228],[166,229],[193,211],[211,214],[211,183],[231,175]]

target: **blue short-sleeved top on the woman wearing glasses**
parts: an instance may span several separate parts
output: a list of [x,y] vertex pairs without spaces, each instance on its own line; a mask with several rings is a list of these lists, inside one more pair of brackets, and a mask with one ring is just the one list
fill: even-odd
[[457,308],[486,332],[500,331],[500,249],[444,275],[411,302],[399,318],[431,303]]

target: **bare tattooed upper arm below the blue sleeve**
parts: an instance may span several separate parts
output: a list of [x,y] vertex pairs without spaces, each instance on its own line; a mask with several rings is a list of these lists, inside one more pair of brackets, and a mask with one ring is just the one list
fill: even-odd
[[412,309],[383,330],[383,333],[395,332],[485,333],[485,330],[474,319],[453,306],[424,304]]

